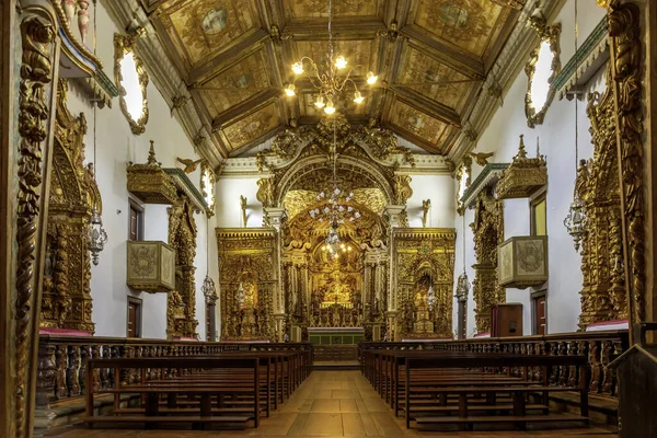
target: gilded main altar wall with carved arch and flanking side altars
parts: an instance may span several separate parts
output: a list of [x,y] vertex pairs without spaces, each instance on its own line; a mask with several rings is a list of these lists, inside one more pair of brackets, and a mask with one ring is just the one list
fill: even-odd
[[452,337],[456,233],[408,227],[412,158],[339,115],[260,152],[263,227],[217,229],[222,339]]

